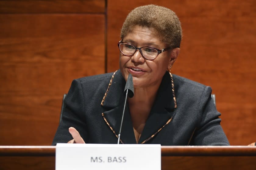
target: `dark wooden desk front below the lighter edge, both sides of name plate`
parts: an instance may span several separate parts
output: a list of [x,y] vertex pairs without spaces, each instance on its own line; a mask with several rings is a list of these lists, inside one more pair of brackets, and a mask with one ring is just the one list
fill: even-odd
[[[255,169],[255,156],[164,156],[161,159],[162,170],[227,170]],[[1,170],[54,170],[55,156],[0,157]]]

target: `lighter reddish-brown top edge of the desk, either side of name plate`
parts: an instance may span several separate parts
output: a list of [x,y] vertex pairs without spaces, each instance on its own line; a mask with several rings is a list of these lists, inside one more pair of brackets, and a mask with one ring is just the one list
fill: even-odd
[[[57,146],[0,146],[0,156],[54,156]],[[255,146],[161,146],[162,156],[256,156]]]

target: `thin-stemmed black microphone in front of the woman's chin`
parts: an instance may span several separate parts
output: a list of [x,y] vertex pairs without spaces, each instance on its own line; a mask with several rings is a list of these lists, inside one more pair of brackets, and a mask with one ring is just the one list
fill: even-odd
[[[124,87],[124,94],[125,94],[125,101],[124,101],[124,107],[123,107],[123,115],[124,115],[124,111],[125,111],[125,107],[126,107],[126,103],[127,103],[127,97],[129,96],[130,98],[132,98],[134,95],[133,77],[131,74],[129,74],[128,79],[126,81],[126,84]],[[120,134],[121,134],[121,129],[122,129],[122,125],[123,125],[123,115],[122,115],[120,130],[119,130],[119,134],[118,134],[117,144],[119,144],[119,142],[120,142]]]

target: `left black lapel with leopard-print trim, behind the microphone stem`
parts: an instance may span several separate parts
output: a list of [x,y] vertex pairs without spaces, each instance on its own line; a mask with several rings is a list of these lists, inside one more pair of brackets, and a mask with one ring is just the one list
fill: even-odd
[[[102,116],[117,137],[116,142],[118,139],[117,135],[119,134],[123,114],[125,98],[123,89],[125,87],[125,83],[126,81],[123,78],[120,70],[116,71],[110,80],[108,90],[106,91],[106,94],[101,102],[101,106],[107,110],[102,113]],[[136,144],[128,103],[126,104],[120,139],[121,143],[124,144]]]

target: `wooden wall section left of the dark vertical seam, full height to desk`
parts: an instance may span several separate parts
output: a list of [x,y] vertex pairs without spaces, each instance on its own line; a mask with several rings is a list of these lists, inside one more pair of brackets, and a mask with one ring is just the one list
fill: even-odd
[[50,145],[72,80],[105,72],[105,1],[0,1],[0,30],[0,145]]

